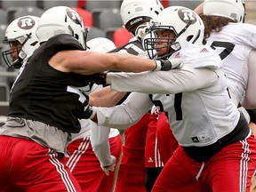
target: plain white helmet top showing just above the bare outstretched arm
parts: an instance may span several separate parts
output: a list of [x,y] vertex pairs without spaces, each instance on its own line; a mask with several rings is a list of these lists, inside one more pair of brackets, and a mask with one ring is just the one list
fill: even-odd
[[96,37],[86,43],[88,50],[92,52],[109,52],[116,48],[114,42],[105,37]]

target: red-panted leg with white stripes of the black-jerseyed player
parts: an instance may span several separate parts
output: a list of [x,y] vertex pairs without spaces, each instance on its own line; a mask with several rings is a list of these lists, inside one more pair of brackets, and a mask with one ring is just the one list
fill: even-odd
[[18,191],[82,191],[63,164],[62,154],[44,148],[33,140],[6,137],[4,142],[12,145],[8,175],[13,186],[19,188]]

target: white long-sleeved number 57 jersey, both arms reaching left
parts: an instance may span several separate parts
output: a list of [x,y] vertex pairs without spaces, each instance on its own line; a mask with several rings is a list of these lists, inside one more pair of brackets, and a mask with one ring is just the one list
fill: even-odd
[[133,124],[153,106],[147,93],[164,94],[164,102],[167,93],[170,105],[163,105],[164,111],[181,146],[208,146],[232,132],[240,113],[228,96],[218,54],[208,46],[188,44],[175,55],[184,60],[183,68],[109,74],[114,90],[132,94],[120,106],[97,108],[98,124]]

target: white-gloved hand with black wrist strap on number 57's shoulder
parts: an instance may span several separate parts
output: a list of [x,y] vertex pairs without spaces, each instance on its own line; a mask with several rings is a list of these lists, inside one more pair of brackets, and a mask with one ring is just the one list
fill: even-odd
[[184,63],[180,58],[172,58],[170,60],[155,60],[156,68],[153,71],[168,71],[173,68],[182,68]]

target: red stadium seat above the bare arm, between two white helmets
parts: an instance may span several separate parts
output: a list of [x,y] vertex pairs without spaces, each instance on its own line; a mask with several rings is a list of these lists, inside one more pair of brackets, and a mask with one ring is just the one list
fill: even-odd
[[113,42],[117,47],[127,44],[131,38],[132,34],[125,28],[117,28],[113,33]]

